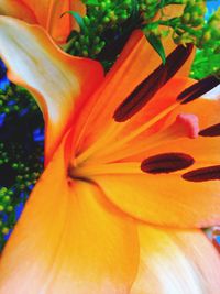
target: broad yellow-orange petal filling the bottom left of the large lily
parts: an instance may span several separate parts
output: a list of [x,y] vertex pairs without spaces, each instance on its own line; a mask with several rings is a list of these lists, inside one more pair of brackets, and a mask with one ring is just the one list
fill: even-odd
[[98,187],[67,179],[69,141],[36,184],[3,250],[0,294],[127,294],[134,281],[136,227]]

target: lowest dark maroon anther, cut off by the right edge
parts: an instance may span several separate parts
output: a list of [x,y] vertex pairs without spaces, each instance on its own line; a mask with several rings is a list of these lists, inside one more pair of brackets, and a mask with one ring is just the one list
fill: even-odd
[[198,168],[184,174],[182,177],[189,182],[220,179],[220,165]]

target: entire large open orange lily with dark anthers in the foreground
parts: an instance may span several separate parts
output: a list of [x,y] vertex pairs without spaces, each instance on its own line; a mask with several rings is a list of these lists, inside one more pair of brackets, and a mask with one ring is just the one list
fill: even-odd
[[165,47],[162,66],[135,31],[103,77],[43,29],[0,18],[10,78],[44,113],[47,163],[3,250],[0,294],[218,294],[200,228],[220,222],[220,101],[196,99],[218,80],[182,77],[191,46]]

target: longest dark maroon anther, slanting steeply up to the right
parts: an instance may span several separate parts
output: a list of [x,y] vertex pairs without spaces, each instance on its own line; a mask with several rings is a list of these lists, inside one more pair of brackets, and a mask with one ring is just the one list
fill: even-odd
[[124,122],[139,112],[153,96],[177,73],[193,51],[193,44],[187,47],[179,45],[167,57],[166,64],[161,64],[146,77],[132,94],[118,107],[113,118]]

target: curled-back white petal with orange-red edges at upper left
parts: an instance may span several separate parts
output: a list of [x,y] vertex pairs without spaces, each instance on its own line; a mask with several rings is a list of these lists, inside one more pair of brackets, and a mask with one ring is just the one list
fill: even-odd
[[63,53],[43,29],[7,17],[0,17],[0,55],[10,80],[34,94],[43,111],[48,162],[72,123],[76,101],[89,97],[102,81],[102,67]]

